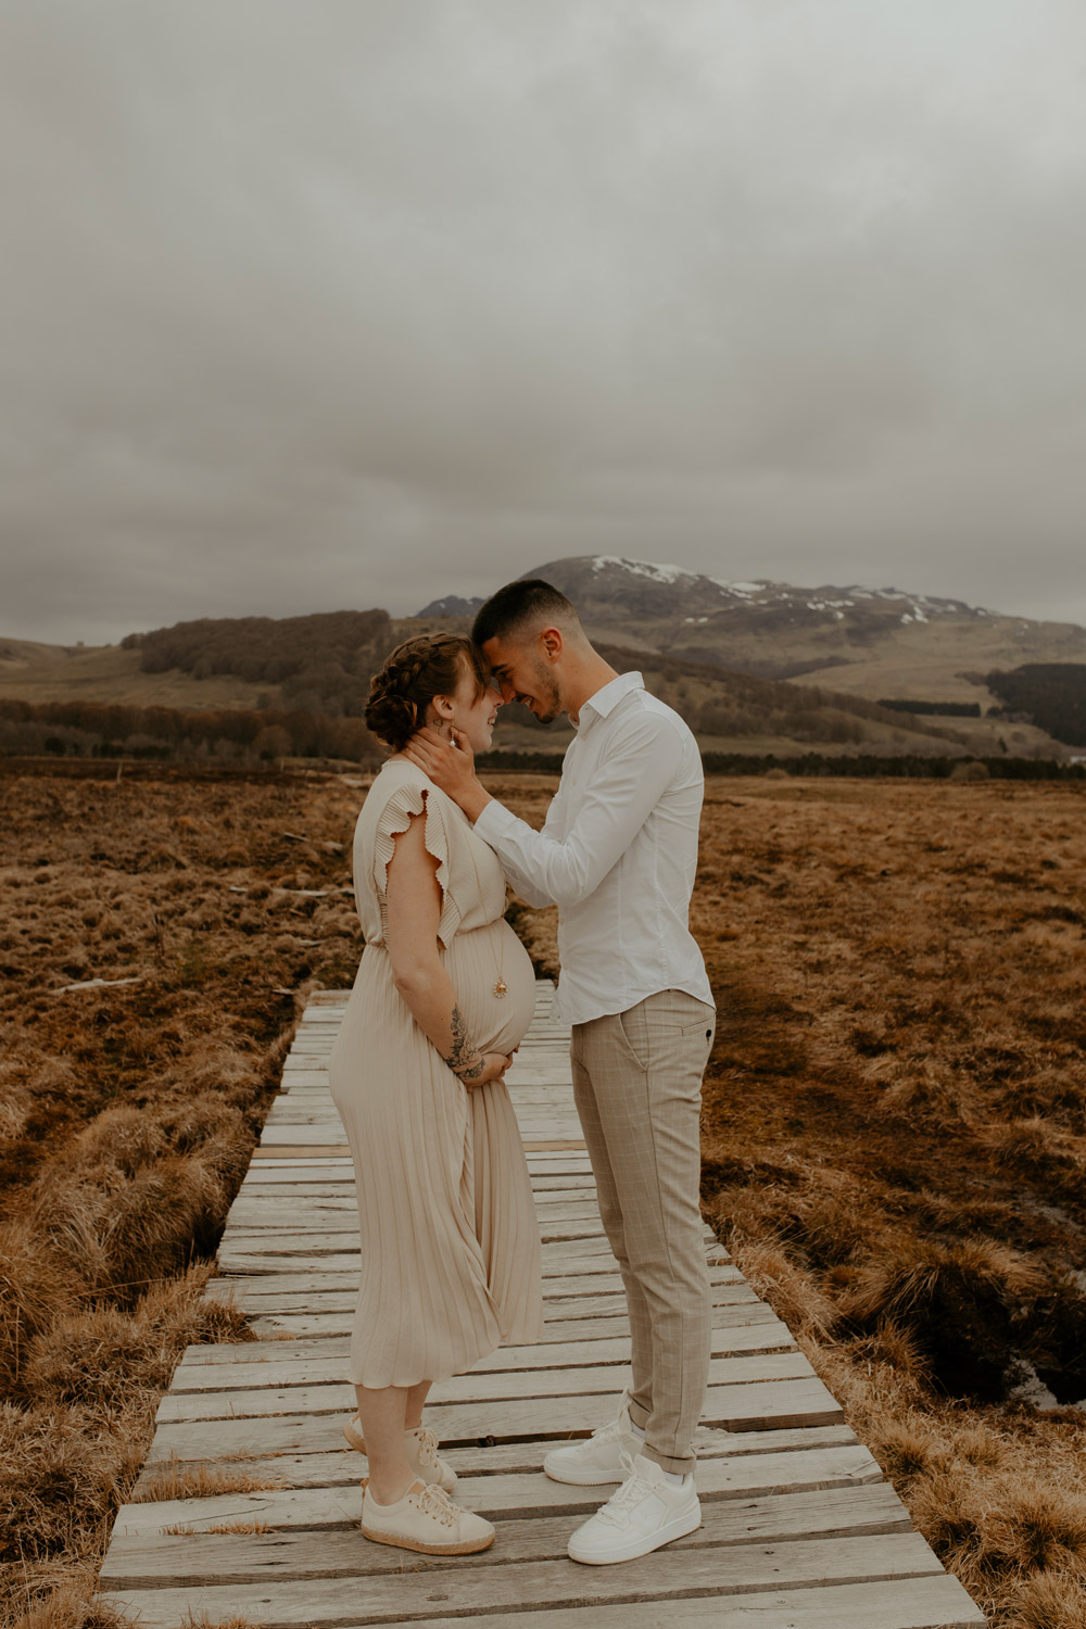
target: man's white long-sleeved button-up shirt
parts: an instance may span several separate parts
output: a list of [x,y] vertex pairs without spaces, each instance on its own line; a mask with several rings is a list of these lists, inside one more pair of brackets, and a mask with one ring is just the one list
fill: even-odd
[[640,673],[624,673],[581,707],[544,829],[497,801],[475,821],[521,898],[558,906],[565,1023],[658,990],[712,1005],[687,925],[703,793],[690,730]]

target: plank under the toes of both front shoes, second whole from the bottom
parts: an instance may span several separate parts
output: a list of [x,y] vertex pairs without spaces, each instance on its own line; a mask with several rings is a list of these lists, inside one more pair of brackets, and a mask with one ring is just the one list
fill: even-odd
[[[581,1489],[581,1495],[585,1491]],[[340,1500],[342,1502],[342,1500]],[[344,1512],[334,1528],[252,1533],[247,1544],[230,1535],[187,1533],[151,1538],[119,1538],[103,1565],[101,1582],[116,1590],[147,1590],[158,1585],[207,1587],[213,1583],[278,1585],[296,1579],[357,1579],[399,1574],[402,1554],[388,1544],[358,1541],[358,1495],[355,1510]],[[519,1562],[565,1556],[570,1533],[586,1512],[599,1505],[581,1497],[581,1510],[536,1513],[531,1518],[500,1517],[492,1549],[477,1565],[508,1567]],[[490,1515],[490,1510],[480,1508]],[[233,1520],[238,1520],[236,1517]],[[866,1487],[830,1487],[812,1494],[767,1494],[741,1500],[708,1500],[702,1508],[700,1546],[782,1544],[790,1539],[860,1538],[873,1533],[907,1533],[909,1512],[887,1482]],[[692,1536],[679,1541],[694,1548]],[[412,1557],[412,1570],[448,1570],[449,1557]]]

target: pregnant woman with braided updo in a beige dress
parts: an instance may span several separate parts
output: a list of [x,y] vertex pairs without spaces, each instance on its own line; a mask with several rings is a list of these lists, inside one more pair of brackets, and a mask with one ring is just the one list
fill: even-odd
[[542,1333],[539,1228],[505,1085],[536,981],[493,850],[402,748],[427,723],[485,751],[500,704],[456,634],[409,640],[373,679],[366,723],[394,753],[355,829],[366,946],[329,1065],[361,1225],[345,1427],[370,1461],[361,1531],[440,1556],[485,1549],[493,1526],[449,1499],[427,1391]]

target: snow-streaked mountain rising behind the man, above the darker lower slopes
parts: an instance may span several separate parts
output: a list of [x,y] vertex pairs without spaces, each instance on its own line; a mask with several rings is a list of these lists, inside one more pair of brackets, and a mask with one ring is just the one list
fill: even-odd
[[817,674],[869,700],[998,707],[985,676],[1023,663],[1086,663],[1086,629],[961,599],[856,585],[731,582],[620,555],[571,555],[524,572],[576,604],[596,640],[770,679]]

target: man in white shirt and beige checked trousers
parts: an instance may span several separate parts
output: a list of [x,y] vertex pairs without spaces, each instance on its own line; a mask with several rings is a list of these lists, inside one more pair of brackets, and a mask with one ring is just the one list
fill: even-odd
[[544,1461],[619,1491],[570,1539],[583,1562],[643,1556],[700,1525],[692,1438],[712,1313],[698,1209],[702,1074],[713,999],[687,927],[703,777],[682,718],[619,674],[570,601],[510,583],[474,626],[505,700],[576,725],[542,832],[492,798],[462,743],[409,756],[475,823],[518,893],[558,906],[558,1008],[599,1212],[625,1284],[632,1383],[619,1414]]

